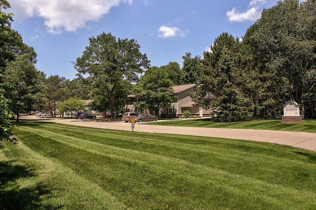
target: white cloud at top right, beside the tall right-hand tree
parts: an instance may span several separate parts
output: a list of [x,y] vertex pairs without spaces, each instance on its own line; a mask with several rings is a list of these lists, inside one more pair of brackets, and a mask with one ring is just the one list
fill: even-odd
[[259,7],[266,3],[266,0],[252,0],[249,3],[246,12],[237,11],[236,7],[232,10],[226,12],[229,21],[243,22],[246,20],[257,20],[261,16],[261,11]]

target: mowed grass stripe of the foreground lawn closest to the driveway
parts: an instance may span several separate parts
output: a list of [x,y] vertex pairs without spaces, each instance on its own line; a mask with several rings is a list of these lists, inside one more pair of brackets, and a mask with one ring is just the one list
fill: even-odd
[[[42,126],[43,128],[53,128],[53,125],[51,126]],[[57,126],[56,126],[57,127]],[[129,131],[125,131],[125,135],[119,135],[119,134],[112,134],[109,133],[107,129],[91,129],[88,127],[83,127],[84,129],[76,129],[76,128],[67,128],[67,131],[65,131],[65,128],[63,125],[60,125],[60,127],[57,127],[58,129],[54,129],[56,132],[61,133],[63,135],[68,136],[74,136],[79,137],[82,139],[86,139],[89,141],[98,142],[101,144],[110,144],[113,145],[120,145],[120,147],[123,147],[124,144],[122,142],[126,143],[137,143],[135,144],[135,148],[140,143],[143,144],[142,146],[139,146],[137,148],[143,148],[145,147],[145,144],[148,144],[150,147],[151,145],[159,145],[164,146],[164,149],[172,148],[172,151],[178,150],[178,149],[188,149],[190,151],[198,151],[198,152],[207,152],[214,155],[218,155],[219,153],[222,156],[228,155],[229,157],[234,156],[233,158],[244,158],[247,156],[252,156],[253,158],[262,158],[267,157],[269,159],[277,159],[277,160],[289,160],[291,156],[293,156],[293,147],[284,145],[284,149],[287,148],[288,151],[280,151],[279,147],[274,148],[273,146],[275,144],[269,144],[269,143],[263,143],[260,148],[260,152],[270,152],[271,154],[263,154],[263,153],[256,153],[256,149],[258,147],[258,144],[260,142],[252,142],[252,141],[243,141],[243,140],[232,140],[232,139],[225,139],[225,138],[208,138],[208,137],[201,137],[201,141],[196,141],[195,136],[181,136],[179,135],[172,135],[173,138],[170,140],[166,139],[164,135],[168,134],[148,134],[141,133],[140,137],[136,136],[137,134],[131,134]],[[73,132],[69,132],[73,131]],[[113,131],[113,130],[111,130]],[[169,135],[170,136],[170,135]],[[92,138],[92,137],[101,137],[101,138]],[[127,138],[126,138],[127,137]],[[117,141],[120,140],[120,141]],[[189,140],[189,141],[185,141]],[[191,141],[193,140],[193,141]],[[216,141],[217,140],[217,141]],[[112,142],[111,142],[112,141]],[[128,144],[131,146],[130,144]],[[233,151],[229,151],[229,153],[225,153],[227,150],[223,149],[223,146],[229,147]],[[246,148],[243,148],[245,145]],[[133,146],[133,145],[132,145]],[[278,145],[283,146],[283,145]],[[160,148],[159,148],[160,149]],[[159,150],[160,152],[163,152],[162,150]],[[305,150],[302,150],[305,151]],[[189,152],[189,151],[188,151]],[[244,155],[244,156],[241,156]],[[253,156],[253,155],[256,156]],[[303,161],[307,160],[306,156],[300,156]],[[224,158],[224,157],[223,157]],[[272,160],[274,161],[274,160]],[[300,164],[301,162],[298,162],[297,157],[296,159],[293,159],[293,162]],[[313,163],[311,163],[313,164]]]

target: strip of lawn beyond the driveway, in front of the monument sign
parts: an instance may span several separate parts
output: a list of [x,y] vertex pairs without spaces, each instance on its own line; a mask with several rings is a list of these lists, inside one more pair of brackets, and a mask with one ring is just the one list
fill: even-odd
[[200,118],[190,120],[163,121],[146,123],[159,126],[184,126],[203,128],[225,128],[225,129],[263,129],[263,130],[285,130],[316,133],[316,119],[303,120],[302,123],[282,123],[282,120],[253,120],[247,122],[216,123],[211,118]]

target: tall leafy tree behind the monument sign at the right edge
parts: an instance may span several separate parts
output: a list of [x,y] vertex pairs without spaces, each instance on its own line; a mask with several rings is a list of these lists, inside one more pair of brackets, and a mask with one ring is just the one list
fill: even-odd
[[[272,104],[276,105],[275,101],[278,104],[278,97],[283,103],[285,99],[296,101],[301,104],[303,117],[305,101],[316,88],[315,23],[315,0],[278,1],[276,6],[263,10],[244,39],[262,66],[262,74],[277,82],[273,86],[279,86],[277,90],[273,90],[273,86],[264,90],[274,93]],[[280,87],[288,93],[287,98],[279,94]]]

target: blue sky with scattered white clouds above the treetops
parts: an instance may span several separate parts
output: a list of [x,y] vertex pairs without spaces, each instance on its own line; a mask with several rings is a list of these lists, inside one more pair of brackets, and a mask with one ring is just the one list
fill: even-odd
[[135,39],[151,65],[202,56],[222,32],[241,38],[277,0],[8,0],[12,28],[35,48],[48,76],[75,78],[70,62],[102,32]]

